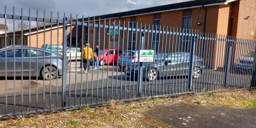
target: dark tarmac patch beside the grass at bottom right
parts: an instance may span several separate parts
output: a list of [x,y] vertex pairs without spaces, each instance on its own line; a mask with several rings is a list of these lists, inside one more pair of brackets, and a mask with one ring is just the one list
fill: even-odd
[[256,109],[175,103],[146,114],[174,127],[256,127]]

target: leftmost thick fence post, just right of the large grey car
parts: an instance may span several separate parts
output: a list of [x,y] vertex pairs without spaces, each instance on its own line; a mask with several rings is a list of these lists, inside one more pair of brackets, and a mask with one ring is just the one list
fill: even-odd
[[61,98],[61,106],[66,107],[66,78],[67,78],[67,18],[64,13],[63,18],[63,54],[62,54],[62,98]]

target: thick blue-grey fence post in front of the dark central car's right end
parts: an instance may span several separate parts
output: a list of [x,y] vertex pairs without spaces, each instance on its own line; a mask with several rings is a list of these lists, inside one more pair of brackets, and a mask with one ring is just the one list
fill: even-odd
[[[196,37],[197,38],[197,37]],[[192,78],[193,78],[193,67],[194,67],[194,58],[195,54],[195,36],[192,35],[192,41],[191,41],[191,51],[190,51],[190,58],[189,58],[189,74],[188,74],[188,89],[191,89],[192,86]],[[193,90],[193,88],[192,88]]]

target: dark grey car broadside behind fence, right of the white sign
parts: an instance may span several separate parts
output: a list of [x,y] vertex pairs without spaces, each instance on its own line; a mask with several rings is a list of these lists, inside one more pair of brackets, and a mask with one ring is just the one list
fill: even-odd
[[[155,62],[143,63],[143,78],[148,81],[153,81],[157,79],[159,76],[163,76],[164,74],[171,74],[174,76],[177,75],[188,75],[189,74],[189,60],[190,54],[186,52],[175,52],[175,53],[157,53],[155,54]],[[204,61],[197,56],[193,59],[195,66],[193,67],[193,78],[199,78],[202,73],[204,73],[205,66]],[[135,68],[135,72],[134,72]],[[187,69],[187,72],[186,72]],[[139,71],[139,63],[132,63],[131,65],[127,65],[125,72],[127,75],[138,76]],[[171,73],[170,73],[171,71]]]

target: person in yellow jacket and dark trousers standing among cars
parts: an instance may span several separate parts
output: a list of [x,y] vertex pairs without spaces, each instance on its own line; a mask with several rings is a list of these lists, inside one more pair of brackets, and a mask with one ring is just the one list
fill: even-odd
[[84,67],[85,73],[88,73],[90,69],[91,60],[93,59],[93,52],[89,43],[85,44],[85,47],[83,47],[82,52],[83,52],[83,67]]

